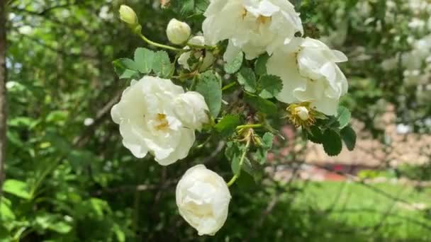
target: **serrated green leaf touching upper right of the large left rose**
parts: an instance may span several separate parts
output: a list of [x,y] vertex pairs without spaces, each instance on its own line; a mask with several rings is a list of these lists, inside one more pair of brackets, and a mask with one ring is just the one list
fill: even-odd
[[201,93],[213,117],[217,117],[221,109],[221,79],[213,71],[206,71],[199,76],[196,91]]

